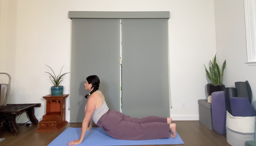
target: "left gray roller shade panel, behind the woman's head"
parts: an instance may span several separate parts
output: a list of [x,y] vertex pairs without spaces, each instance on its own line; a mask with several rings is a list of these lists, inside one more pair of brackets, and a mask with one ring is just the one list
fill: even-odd
[[107,105],[119,111],[119,19],[72,19],[70,123],[81,123],[85,116],[84,83],[90,75],[99,76]]

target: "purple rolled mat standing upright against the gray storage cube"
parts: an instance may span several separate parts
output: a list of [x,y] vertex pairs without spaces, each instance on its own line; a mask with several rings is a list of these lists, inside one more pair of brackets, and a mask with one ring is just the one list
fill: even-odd
[[213,111],[213,128],[219,134],[226,134],[226,100],[225,91],[211,93],[211,108]]

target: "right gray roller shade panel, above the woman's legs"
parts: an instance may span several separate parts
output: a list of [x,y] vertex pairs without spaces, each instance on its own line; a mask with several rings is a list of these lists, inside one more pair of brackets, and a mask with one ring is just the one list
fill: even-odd
[[122,19],[122,112],[169,117],[167,19]]

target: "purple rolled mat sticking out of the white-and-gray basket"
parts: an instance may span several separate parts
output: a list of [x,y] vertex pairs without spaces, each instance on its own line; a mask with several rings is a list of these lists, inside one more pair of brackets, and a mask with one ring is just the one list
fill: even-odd
[[234,117],[253,117],[256,116],[256,111],[249,103],[247,98],[231,97],[231,110]]

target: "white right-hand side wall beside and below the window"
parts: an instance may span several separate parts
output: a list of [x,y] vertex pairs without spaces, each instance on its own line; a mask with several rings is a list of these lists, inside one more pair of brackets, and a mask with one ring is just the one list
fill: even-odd
[[214,0],[216,51],[218,61],[227,60],[223,83],[235,87],[235,82],[248,80],[252,89],[252,105],[256,109],[256,66],[249,66],[246,54],[243,0]]

